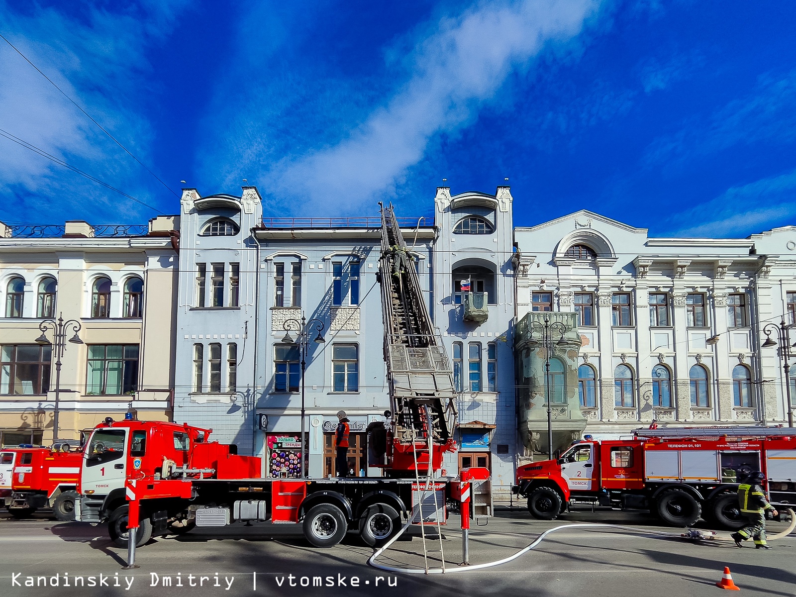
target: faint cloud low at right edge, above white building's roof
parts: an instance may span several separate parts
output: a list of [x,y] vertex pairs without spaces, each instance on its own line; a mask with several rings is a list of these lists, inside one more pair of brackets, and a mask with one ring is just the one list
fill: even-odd
[[[796,217],[796,170],[732,187],[669,219],[677,236],[747,236]],[[693,222],[704,222],[697,226]]]

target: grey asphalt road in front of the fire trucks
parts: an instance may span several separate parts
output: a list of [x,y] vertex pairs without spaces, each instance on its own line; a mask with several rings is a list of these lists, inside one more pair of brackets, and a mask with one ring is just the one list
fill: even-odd
[[[533,521],[524,509],[498,509],[488,525],[471,531],[470,563],[500,560],[546,529],[584,522],[630,525],[636,530],[562,529],[507,564],[425,576],[369,567],[373,550],[353,535],[335,548],[310,548],[297,536],[300,529],[292,525],[235,526],[202,533],[194,529],[184,537],[159,537],[139,548],[141,568],[124,571],[126,551],[113,547],[101,526],[56,523],[44,517],[15,521],[0,514],[0,595],[686,597],[720,595],[715,583],[724,566],[731,568],[732,578],[747,595],[796,595],[796,534],[775,541],[775,548],[767,552],[751,546],[738,549],[722,540],[694,544],[677,537],[681,530],[657,526],[653,518],[611,510],[584,510],[541,522]],[[458,516],[451,515],[443,531],[449,570],[462,569],[457,565],[462,559],[458,524]],[[769,524],[772,534],[785,528]],[[412,534],[418,531],[412,529]],[[728,537],[728,533],[720,536]],[[439,548],[439,541],[428,543],[429,548]],[[380,561],[400,568],[423,568],[422,545],[419,537],[399,540]],[[432,567],[438,568],[439,552],[431,553],[430,559]],[[46,587],[41,586],[41,576]],[[87,586],[75,587],[75,576],[83,576]],[[170,587],[163,586],[166,576]],[[322,586],[313,587],[318,576]],[[26,587],[28,577],[39,586]],[[89,577],[97,586],[89,586]],[[302,577],[309,587],[302,587]],[[55,582],[57,586],[52,586]]]

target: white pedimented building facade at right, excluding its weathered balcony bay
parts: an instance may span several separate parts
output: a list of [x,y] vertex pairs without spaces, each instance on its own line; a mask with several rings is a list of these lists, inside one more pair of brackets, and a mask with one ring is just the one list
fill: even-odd
[[587,432],[615,438],[653,419],[786,421],[778,355],[761,349],[761,336],[793,309],[793,227],[747,239],[650,238],[583,210],[514,233],[518,315],[576,314]]

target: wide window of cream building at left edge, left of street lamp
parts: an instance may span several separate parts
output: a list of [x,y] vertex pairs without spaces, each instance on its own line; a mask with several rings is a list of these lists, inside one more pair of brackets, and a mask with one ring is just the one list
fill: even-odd
[[52,345],[0,346],[0,394],[49,392]]

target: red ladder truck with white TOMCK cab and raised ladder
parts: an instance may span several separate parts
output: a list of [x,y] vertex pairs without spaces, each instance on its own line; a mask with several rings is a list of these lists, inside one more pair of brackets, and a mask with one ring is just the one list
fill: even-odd
[[[107,419],[84,451],[76,520],[107,523],[111,539],[131,549],[128,560],[153,535],[256,521],[302,524],[316,547],[338,544],[349,529],[379,547],[406,521],[420,526],[427,562],[428,552],[442,552],[439,525],[447,517],[447,499],[462,501],[469,511],[470,492],[462,482],[488,483],[489,471],[465,470],[461,480],[437,476],[443,453],[456,450],[451,365],[392,206],[380,211],[378,279],[391,408],[387,422],[370,429],[369,443],[377,459],[370,466],[381,467],[384,476],[263,478],[260,458],[209,441],[212,430]],[[488,490],[483,494],[490,499]],[[469,528],[466,513],[465,520]],[[128,522],[135,528],[136,521],[136,540],[128,544]],[[437,528],[438,550],[427,549],[427,525]]]

